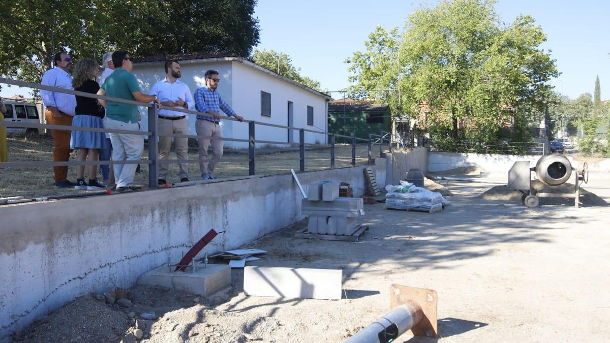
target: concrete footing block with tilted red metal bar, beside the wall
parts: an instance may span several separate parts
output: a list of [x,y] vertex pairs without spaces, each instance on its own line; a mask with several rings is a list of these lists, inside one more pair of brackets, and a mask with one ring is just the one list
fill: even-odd
[[150,284],[180,289],[192,294],[208,297],[231,286],[231,267],[225,264],[195,264],[195,271],[170,272],[167,265],[155,268],[138,278],[138,284]]

